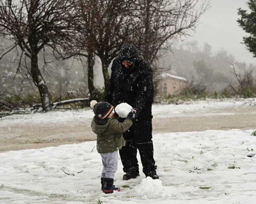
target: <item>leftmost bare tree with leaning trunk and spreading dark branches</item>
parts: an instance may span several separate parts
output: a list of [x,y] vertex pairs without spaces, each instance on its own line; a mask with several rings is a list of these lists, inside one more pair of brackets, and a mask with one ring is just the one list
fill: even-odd
[[[3,47],[0,59],[11,50],[17,50],[17,73],[32,78],[40,93],[42,108],[51,109],[49,91],[38,67],[38,55],[51,47],[53,55],[75,43],[75,36],[82,27],[77,15],[77,0],[0,0],[0,36],[13,42]],[[43,70],[47,72],[48,61]]]

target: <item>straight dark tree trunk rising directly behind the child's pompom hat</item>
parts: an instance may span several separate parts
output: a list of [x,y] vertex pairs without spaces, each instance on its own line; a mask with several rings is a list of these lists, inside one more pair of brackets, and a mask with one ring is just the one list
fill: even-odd
[[89,54],[88,53],[88,58],[87,58],[87,63],[88,63],[88,89],[91,95],[91,99],[96,99],[96,94],[95,94],[95,87],[93,84],[93,78],[94,78],[94,74],[93,74],[93,66],[95,63],[95,59],[93,54]]

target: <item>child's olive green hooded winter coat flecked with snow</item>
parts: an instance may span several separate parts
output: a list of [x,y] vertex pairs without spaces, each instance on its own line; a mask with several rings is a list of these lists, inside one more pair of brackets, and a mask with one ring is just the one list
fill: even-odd
[[99,120],[94,116],[91,127],[97,134],[98,153],[114,152],[124,145],[123,132],[132,126],[133,122],[125,119],[122,123],[117,118]]

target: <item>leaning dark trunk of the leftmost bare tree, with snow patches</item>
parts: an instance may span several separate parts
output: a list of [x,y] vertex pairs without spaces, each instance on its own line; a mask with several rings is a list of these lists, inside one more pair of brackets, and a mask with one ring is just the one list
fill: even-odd
[[31,75],[35,85],[39,90],[43,110],[44,111],[51,110],[51,101],[49,98],[48,88],[38,68],[38,58],[37,58],[36,52],[34,51],[31,51]]

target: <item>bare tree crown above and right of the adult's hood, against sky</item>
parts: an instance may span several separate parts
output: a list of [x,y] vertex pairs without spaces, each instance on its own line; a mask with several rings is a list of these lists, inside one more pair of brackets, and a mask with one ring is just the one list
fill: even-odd
[[130,39],[151,64],[171,50],[172,39],[189,36],[209,8],[203,0],[139,0],[132,8]]

